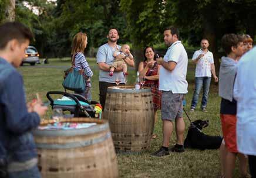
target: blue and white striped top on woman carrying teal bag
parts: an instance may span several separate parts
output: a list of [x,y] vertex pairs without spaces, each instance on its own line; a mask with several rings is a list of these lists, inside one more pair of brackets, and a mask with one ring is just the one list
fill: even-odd
[[85,55],[83,53],[76,53],[74,69],[76,69],[76,70],[83,69],[83,70],[85,70],[86,76],[88,76],[88,77],[93,76],[93,72],[90,69],[90,66],[89,66],[87,60],[85,59]]

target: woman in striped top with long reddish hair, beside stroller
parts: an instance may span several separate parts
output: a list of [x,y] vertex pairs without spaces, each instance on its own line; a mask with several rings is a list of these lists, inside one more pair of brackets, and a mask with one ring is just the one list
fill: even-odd
[[76,93],[83,95],[87,100],[92,100],[92,94],[90,92],[90,77],[92,77],[93,72],[90,69],[90,66],[85,59],[85,55],[83,54],[83,51],[85,50],[87,46],[87,36],[86,33],[76,33],[75,37],[73,38],[73,46],[72,46],[72,66],[75,70],[84,70],[84,76],[86,79],[86,88],[83,93]]

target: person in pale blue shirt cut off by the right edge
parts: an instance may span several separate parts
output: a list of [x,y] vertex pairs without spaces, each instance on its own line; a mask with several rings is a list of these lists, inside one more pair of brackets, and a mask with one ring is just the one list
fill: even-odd
[[251,177],[256,177],[256,47],[237,64],[234,98],[237,100],[237,149],[248,155]]

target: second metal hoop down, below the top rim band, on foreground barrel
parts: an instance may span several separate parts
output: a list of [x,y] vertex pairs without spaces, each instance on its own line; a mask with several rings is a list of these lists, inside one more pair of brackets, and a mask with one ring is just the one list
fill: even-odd
[[88,141],[81,141],[81,142],[71,142],[66,144],[49,144],[49,143],[36,143],[37,148],[42,149],[72,149],[72,148],[80,148],[90,145],[95,145],[97,143],[106,141],[111,137],[111,132],[107,132],[106,135],[100,136],[99,138],[90,139]]

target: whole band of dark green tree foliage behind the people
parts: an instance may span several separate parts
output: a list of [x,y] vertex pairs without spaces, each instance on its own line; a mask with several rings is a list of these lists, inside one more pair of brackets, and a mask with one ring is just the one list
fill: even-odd
[[[8,0],[0,1],[0,22]],[[29,5],[27,8],[24,2]],[[175,25],[183,42],[198,46],[202,37],[216,53],[224,33],[256,33],[255,0],[27,0],[16,1],[16,21],[35,34],[35,45],[44,56],[69,56],[72,37],[86,32],[92,55],[105,43],[110,28],[119,29],[119,43],[136,50],[163,42],[163,28]],[[38,15],[32,9],[38,11]],[[163,43],[162,43],[163,44]],[[44,53],[43,53],[44,52]]]

